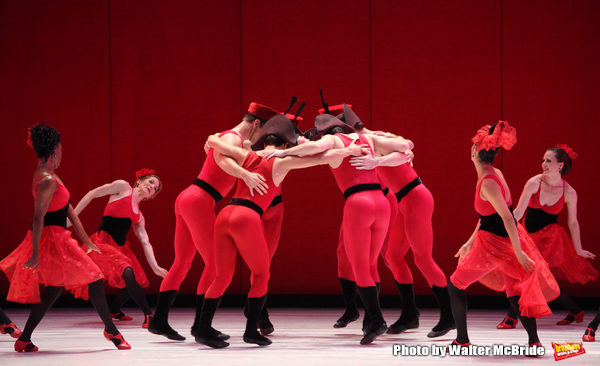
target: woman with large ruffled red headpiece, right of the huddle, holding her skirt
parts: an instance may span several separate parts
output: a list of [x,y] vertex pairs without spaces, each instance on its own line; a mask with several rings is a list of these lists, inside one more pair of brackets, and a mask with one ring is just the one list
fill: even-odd
[[480,220],[456,253],[458,267],[448,282],[457,328],[454,345],[470,344],[465,289],[475,281],[494,290],[506,290],[510,303],[520,311],[530,346],[541,346],[535,318],[551,315],[547,301],[559,294],[548,265],[525,229],[516,224],[506,180],[492,165],[499,148],[510,150],[516,141],[515,129],[505,121],[487,125],[473,137],[471,160],[478,178],[475,209]]

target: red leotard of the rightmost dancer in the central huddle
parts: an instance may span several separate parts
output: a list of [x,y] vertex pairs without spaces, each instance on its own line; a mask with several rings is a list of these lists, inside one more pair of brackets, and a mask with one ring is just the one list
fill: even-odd
[[[377,173],[390,189],[396,193],[418,178],[410,164],[396,167],[378,167]],[[445,287],[446,276],[433,260],[433,195],[419,184],[398,203],[398,211],[390,228],[390,239],[385,263],[398,283],[413,283],[412,272],[404,259],[412,249],[415,265],[429,287]]]

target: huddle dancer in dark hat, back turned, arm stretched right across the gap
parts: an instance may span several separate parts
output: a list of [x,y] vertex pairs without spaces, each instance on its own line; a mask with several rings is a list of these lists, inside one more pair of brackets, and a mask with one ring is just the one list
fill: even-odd
[[[283,149],[287,145],[295,145],[296,141],[297,135],[290,120],[277,115],[265,124],[254,145],[262,145],[265,151],[269,151]],[[229,345],[216,335],[212,328],[212,319],[225,289],[231,283],[236,252],[239,250],[252,271],[244,342],[266,346],[271,344],[271,341],[257,331],[258,318],[267,297],[270,277],[270,255],[261,221],[262,213],[277,194],[278,187],[291,169],[327,164],[335,159],[341,160],[342,157],[349,154],[360,154],[361,148],[352,144],[346,149],[314,157],[266,160],[254,151],[248,152],[241,148],[231,147],[216,136],[210,136],[208,144],[223,155],[233,158],[248,171],[261,174],[266,179],[268,189],[262,196],[250,196],[246,187],[238,182],[234,198],[217,217],[215,224],[217,276],[206,292],[196,342],[214,348],[223,348]],[[259,235],[256,234],[257,229],[260,232]]]

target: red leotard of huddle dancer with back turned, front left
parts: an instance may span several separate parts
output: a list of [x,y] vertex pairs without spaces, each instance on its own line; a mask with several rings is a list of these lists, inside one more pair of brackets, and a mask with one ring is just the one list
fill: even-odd
[[[273,183],[274,162],[275,159],[263,159],[254,151],[248,153],[242,167],[249,172],[262,175],[269,188],[264,195],[252,197],[244,182],[238,181],[233,198],[251,201],[263,211],[266,210],[273,197],[279,192],[278,187]],[[237,251],[252,271],[248,297],[264,296],[267,293],[270,277],[270,256],[260,214],[246,206],[227,205],[217,216],[215,242],[217,276],[206,292],[206,298],[220,297],[231,283]]]

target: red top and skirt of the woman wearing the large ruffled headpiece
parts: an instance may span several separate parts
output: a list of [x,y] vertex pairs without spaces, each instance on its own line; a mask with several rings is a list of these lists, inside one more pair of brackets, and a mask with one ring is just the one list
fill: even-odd
[[[482,217],[489,217],[497,213],[492,204],[480,196],[481,184],[485,179],[494,180],[500,185],[502,196],[506,194],[495,175],[487,175],[479,182],[475,192],[475,208]],[[512,200],[507,204],[510,206]],[[535,262],[532,273],[527,273],[517,260],[510,238],[478,230],[471,250],[459,263],[450,280],[463,290],[479,281],[493,290],[506,291],[507,296],[520,295],[519,310],[523,316],[539,318],[552,315],[547,303],[560,293],[556,280],[523,226],[518,224],[517,230],[521,249]]]

